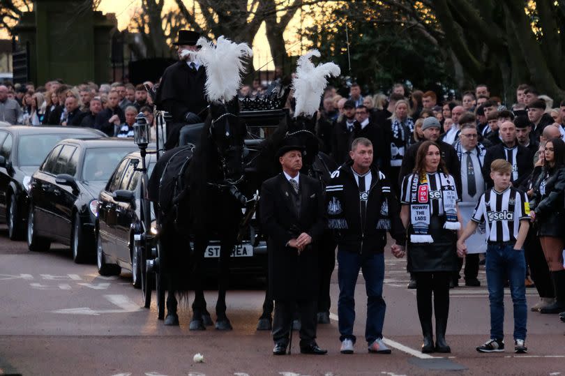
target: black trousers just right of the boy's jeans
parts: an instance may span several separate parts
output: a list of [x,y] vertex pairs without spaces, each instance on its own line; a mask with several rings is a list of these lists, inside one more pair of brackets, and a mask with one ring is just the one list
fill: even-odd
[[545,261],[541,243],[533,226],[529,227],[526,240],[524,241],[524,253],[529,266],[530,276],[536,284],[539,296],[541,298],[555,297],[548,262]]

